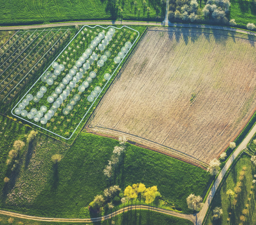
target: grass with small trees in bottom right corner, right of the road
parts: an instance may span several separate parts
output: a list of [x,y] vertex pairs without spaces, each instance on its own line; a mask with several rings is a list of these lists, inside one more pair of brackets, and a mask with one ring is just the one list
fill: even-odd
[[[228,195],[226,194],[226,191],[228,189],[231,189],[234,191],[234,188],[239,181],[239,173],[242,171],[243,167],[246,166],[245,169],[245,178],[242,181],[242,191],[240,195],[238,196],[238,201],[236,204],[235,209],[233,208],[233,199],[234,197],[229,200]],[[240,216],[242,215],[242,210],[244,208],[249,209],[248,216],[245,215],[246,218],[246,224],[252,225],[256,222],[256,213],[255,213],[255,198],[256,198],[256,192],[255,192],[255,185],[254,189],[251,191],[252,186],[252,180],[253,175],[256,173],[255,166],[250,161],[250,157],[247,154],[243,154],[241,158],[236,162],[236,164],[233,166],[232,169],[230,169],[229,174],[227,178],[223,181],[220,189],[216,193],[215,198],[213,199],[213,204],[210,208],[209,216],[206,219],[205,225],[226,225],[226,224],[232,224],[232,225],[238,225],[241,220]],[[250,198],[250,199],[248,199]],[[246,206],[246,204],[248,204]],[[213,220],[213,209],[215,207],[221,207],[223,209],[223,214],[221,216],[221,219],[219,220]],[[231,212],[231,214],[229,214]],[[230,219],[230,222],[227,222],[227,219]]]

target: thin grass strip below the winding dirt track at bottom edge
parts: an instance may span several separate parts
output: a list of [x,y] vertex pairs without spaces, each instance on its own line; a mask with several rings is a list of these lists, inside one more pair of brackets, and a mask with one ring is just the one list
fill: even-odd
[[[0,215],[0,224],[1,225],[9,225],[8,222],[9,216]],[[35,220],[27,220],[27,219],[20,219],[16,217],[11,217],[14,219],[12,225],[110,225],[111,221],[114,221],[115,225],[121,224],[137,224],[137,225],[154,225],[154,224],[161,224],[161,225],[192,225],[193,223],[189,220],[182,219],[175,216],[169,216],[162,213],[157,213],[154,211],[147,211],[147,210],[135,210],[128,211],[122,214],[119,214],[111,219],[102,221],[102,222],[94,222],[94,223],[65,223],[65,222],[42,222]]]

